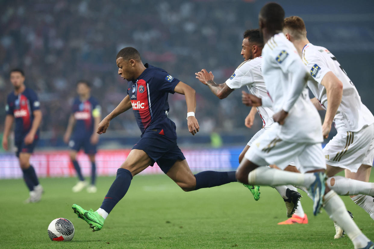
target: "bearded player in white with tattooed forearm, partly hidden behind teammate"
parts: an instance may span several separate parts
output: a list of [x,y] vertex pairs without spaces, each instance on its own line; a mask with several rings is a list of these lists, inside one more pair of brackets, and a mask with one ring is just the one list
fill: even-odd
[[[260,31],[258,29],[248,29],[243,34],[242,51],[240,53],[245,60],[236,68],[235,72],[225,83],[216,84],[214,82],[214,75],[212,72],[208,73],[206,69],[202,69],[200,72],[197,72],[196,78],[203,84],[208,85],[212,93],[214,93],[220,99],[226,98],[235,89],[245,86],[248,88],[251,94],[254,94],[260,98],[266,97],[267,90],[261,72],[261,52],[263,47],[264,42],[262,37],[260,37]],[[256,108],[252,108],[251,112],[253,112],[253,110],[256,110]],[[242,161],[246,151],[252,145],[252,142],[265,130],[270,129],[274,123],[274,111],[271,107],[258,106],[257,111],[263,121],[263,128],[251,138],[243,151],[240,153],[239,163]],[[299,218],[294,218],[294,222],[307,224],[307,215],[304,214],[301,204],[298,204],[301,194],[296,191],[297,189],[295,189],[293,186],[276,186],[274,188],[278,190],[279,194],[281,194],[283,200],[285,201],[287,217],[293,216],[294,212],[296,211],[298,215],[297,217]],[[255,200],[258,199],[255,198]],[[296,208],[297,210],[295,210]]]

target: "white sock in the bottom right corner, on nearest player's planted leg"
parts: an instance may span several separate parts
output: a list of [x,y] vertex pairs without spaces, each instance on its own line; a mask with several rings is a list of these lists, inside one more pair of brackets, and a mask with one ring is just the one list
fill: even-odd
[[330,190],[324,197],[324,208],[330,219],[335,221],[347,234],[355,248],[364,248],[370,241],[358,228],[347,212],[343,200]]

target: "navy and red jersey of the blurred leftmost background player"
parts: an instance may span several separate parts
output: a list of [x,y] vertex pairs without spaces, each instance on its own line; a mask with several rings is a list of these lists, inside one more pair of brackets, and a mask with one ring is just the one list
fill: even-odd
[[[36,93],[30,88],[15,95],[10,93],[7,97],[7,105],[5,106],[6,114],[13,115],[15,118],[15,140],[19,141],[30,131],[34,120],[33,112],[40,109],[40,102]],[[39,129],[36,133],[38,136]]]

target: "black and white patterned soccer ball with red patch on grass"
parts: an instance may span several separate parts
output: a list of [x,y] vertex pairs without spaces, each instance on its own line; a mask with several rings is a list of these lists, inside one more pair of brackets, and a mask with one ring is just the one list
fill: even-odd
[[74,225],[68,219],[57,218],[50,222],[48,236],[53,241],[70,241],[74,237]]

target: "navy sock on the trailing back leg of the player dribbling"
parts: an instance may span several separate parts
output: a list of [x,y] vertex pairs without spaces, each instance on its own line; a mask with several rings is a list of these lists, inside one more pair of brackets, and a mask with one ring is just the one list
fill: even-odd
[[195,175],[195,190],[220,186],[226,183],[232,183],[236,180],[235,171],[202,171]]

